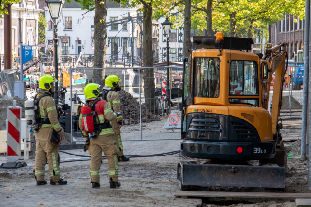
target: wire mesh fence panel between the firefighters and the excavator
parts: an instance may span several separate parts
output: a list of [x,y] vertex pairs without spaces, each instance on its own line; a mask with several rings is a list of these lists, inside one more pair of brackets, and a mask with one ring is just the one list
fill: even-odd
[[[87,83],[101,83],[101,77],[110,74],[117,75],[122,91],[119,92],[123,126],[121,130],[122,141],[151,141],[181,139],[181,129],[163,129],[169,121],[169,110],[164,109],[163,115],[159,115],[157,101],[162,100],[162,91],[165,91],[167,67],[127,67],[127,68],[69,68],[69,74],[75,77],[67,87],[65,103],[71,109],[71,137],[72,142],[83,141],[78,132],[81,104],[86,98],[83,88]],[[81,81],[78,74],[85,74],[87,79]],[[173,123],[181,122],[182,96],[182,67],[169,66],[171,89],[171,110],[177,118]],[[83,76],[85,77],[85,76]],[[163,83],[162,83],[163,82]],[[101,83],[101,88],[104,83]],[[155,90],[157,89],[157,90]],[[80,106],[79,106],[80,105]],[[181,124],[180,124],[181,126]]]

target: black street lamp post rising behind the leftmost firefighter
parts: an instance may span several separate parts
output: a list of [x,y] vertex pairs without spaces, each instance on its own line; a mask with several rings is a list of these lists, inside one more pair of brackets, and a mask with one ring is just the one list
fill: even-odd
[[[59,19],[60,14],[62,12],[64,2],[62,0],[46,0],[45,3],[49,7],[49,12],[54,25],[54,67],[55,67],[55,78],[58,80],[58,35],[57,35],[57,24],[60,22],[56,22],[56,19]],[[54,22],[55,20],[55,22]],[[55,83],[55,90],[54,90],[54,101],[55,105],[58,106],[59,104],[59,96],[58,96],[58,83]]]

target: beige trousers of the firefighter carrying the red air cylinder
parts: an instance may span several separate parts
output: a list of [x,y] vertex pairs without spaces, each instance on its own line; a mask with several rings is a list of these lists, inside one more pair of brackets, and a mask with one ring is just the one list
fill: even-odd
[[96,139],[90,139],[89,154],[91,155],[91,182],[100,181],[99,170],[102,152],[104,152],[108,161],[109,182],[119,181],[117,146],[114,142],[114,134],[109,134],[99,135]]

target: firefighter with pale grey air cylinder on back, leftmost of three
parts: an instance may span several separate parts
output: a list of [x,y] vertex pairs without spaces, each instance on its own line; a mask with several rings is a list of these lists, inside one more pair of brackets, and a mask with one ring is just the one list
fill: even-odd
[[[38,101],[36,116],[36,159],[35,159],[35,178],[37,185],[45,185],[44,180],[45,164],[48,161],[50,184],[65,185],[66,180],[60,177],[58,163],[58,145],[63,137],[63,128],[58,122],[58,115],[52,95],[54,94],[54,83],[57,80],[51,75],[43,75],[39,79],[39,93],[35,95]],[[38,126],[39,124],[39,126]]]

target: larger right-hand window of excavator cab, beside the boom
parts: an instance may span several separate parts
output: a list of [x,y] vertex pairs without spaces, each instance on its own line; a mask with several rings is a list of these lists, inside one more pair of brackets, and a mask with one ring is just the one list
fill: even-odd
[[229,81],[229,95],[258,95],[257,63],[253,61],[231,61]]

